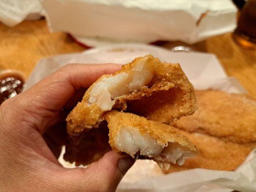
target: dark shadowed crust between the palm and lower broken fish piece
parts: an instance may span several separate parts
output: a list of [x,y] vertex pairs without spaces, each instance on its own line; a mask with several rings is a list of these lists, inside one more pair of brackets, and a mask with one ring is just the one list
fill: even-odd
[[107,123],[102,122],[99,128],[86,129],[79,135],[69,136],[65,143],[64,160],[75,162],[76,166],[98,161],[111,150],[108,134]]

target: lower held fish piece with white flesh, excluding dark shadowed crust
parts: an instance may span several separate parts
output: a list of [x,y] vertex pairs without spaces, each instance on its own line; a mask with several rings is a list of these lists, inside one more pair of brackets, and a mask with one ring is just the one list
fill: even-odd
[[120,156],[138,154],[168,169],[198,154],[195,145],[169,125],[119,111],[107,113],[105,119],[110,146]]

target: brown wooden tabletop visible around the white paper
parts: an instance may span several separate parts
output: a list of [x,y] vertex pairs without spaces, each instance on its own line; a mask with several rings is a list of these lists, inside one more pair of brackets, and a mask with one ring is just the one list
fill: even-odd
[[[163,45],[170,46],[170,43]],[[211,37],[193,47],[216,54],[227,74],[236,77],[256,97],[256,51],[237,46],[230,33]],[[43,19],[24,21],[13,28],[0,24],[0,69],[19,70],[26,78],[41,58],[83,50],[67,34],[50,33]]]

